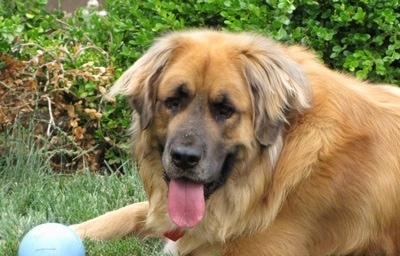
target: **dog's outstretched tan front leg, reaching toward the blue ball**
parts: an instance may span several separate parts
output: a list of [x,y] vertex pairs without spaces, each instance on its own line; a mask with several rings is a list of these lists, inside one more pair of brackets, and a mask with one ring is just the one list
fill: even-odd
[[108,240],[128,235],[144,238],[152,236],[145,228],[148,211],[148,201],[135,203],[70,227],[81,238]]

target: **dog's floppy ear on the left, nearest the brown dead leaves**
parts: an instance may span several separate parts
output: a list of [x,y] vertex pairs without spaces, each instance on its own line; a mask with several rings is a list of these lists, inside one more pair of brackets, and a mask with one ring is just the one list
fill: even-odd
[[154,117],[157,86],[177,43],[172,37],[159,39],[110,88],[108,96],[126,96],[140,116],[140,127],[146,129]]

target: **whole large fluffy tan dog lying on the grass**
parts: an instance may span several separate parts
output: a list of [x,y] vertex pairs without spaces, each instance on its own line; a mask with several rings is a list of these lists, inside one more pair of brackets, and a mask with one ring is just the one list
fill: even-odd
[[171,32],[110,89],[148,196],[71,227],[172,255],[400,255],[400,89],[254,33]]

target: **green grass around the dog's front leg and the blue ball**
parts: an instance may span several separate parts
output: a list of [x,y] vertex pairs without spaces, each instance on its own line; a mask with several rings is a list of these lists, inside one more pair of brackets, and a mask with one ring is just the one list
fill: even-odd
[[[36,136],[14,127],[0,133],[0,256],[17,255],[19,242],[34,226],[78,223],[106,211],[145,199],[132,164],[125,175],[56,174]],[[161,241],[134,237],[115,241],[84,241],[86,255],[160,255]]]

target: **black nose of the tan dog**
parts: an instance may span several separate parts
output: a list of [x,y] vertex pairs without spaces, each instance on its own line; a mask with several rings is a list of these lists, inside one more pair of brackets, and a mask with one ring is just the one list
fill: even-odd
[[192,147],[174,147],[171,149],[172,161],[181,169],[194,168],[201,159],[201,151]]

